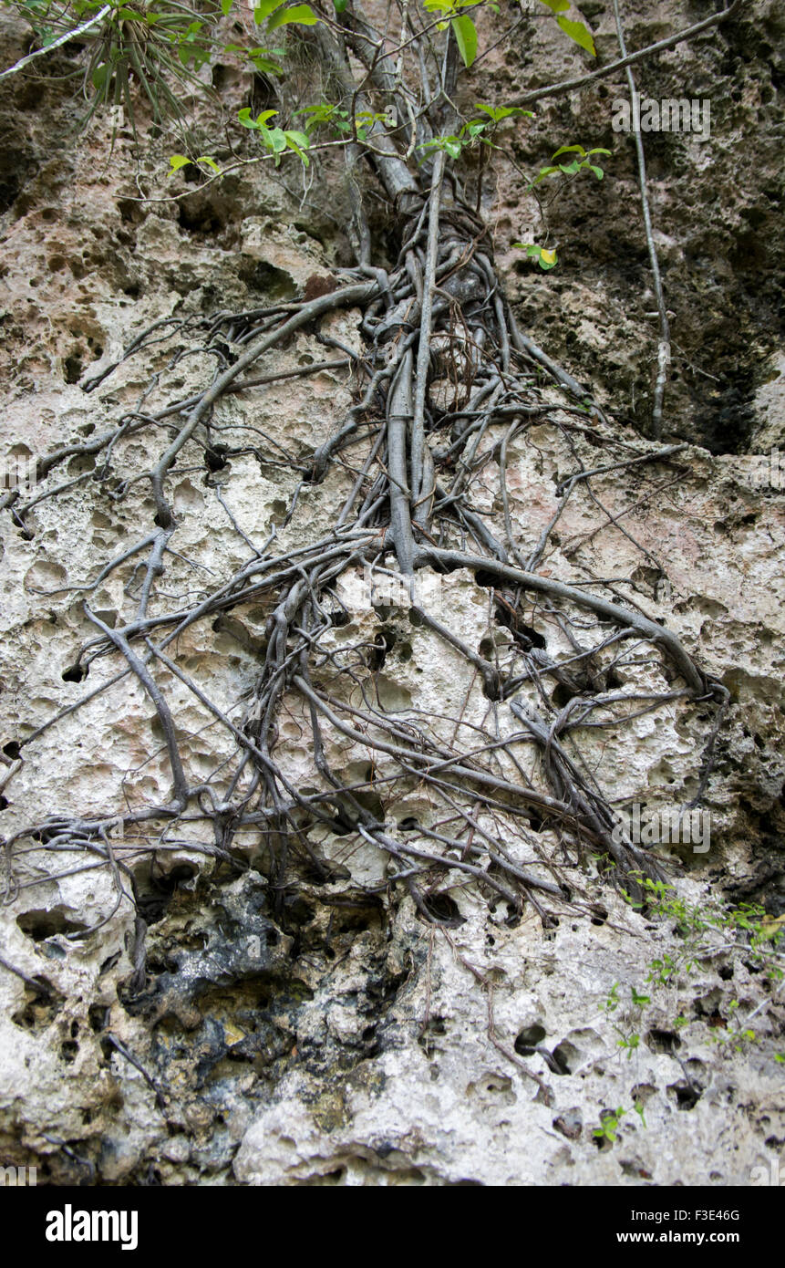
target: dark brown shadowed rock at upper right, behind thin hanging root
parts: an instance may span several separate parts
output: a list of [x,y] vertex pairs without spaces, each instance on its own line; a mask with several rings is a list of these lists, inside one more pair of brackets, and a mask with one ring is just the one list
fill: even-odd
[[[588,3],[581,11],[599,56],[615,60],[613,5]],[[637,49],[690,27],[708,10],[689,0],[644,0],[623,13],[626,44]],[[776,424],[756,399],[777,378],[782,350],[775,280],[784,262],[782,176],[775,160],[782,23],[780,5],[755,3],[732,38],[720,27],[720,33],[709,30],[634,67],[642,100],[710,104],[708,139],[705,129],[652,131],[643,138],[671,313],[671,429],[717,454],[765,451],[781,440],[785,426],[781,398]],[[507,99],[585,72],[581,55],[559,36],[553,23],[524,8],[521,38],[493,55],[493,66],[486,63],[486,80],[472,100]],[[544,75],[535,70],[543,63]],[[628,99],[621,75],[539,103],[530,129],[512,141],[519,166],[536,172],[557,145],[578,142],[611,151],[600,160],[604,180],[583,174],[555,195],[549,181],[526,194],[519,171],[500,169],[488,210],[500,250],[515,238],[544,242],[547,233],[549,245],[559,247],[561,264],[548,285],[520,252],[501,255],[507,290],[520,303],[526,328],[581,380],[602,394],[610,391],[618,416],[646,426],[658,322],[633,137],[614,131],[614,103]]]

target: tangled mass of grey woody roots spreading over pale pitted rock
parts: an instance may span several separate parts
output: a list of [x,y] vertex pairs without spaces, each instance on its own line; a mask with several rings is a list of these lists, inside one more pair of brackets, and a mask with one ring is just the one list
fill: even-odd
[[[469,208],[448,195],[439,158],[429,194],[415,198],[410,190],[406,199],[401,252],[389,273],[365,266],[349,273],[331,294],[285,311],[222,312],[202,330],[183,322],[148,331],[127,356],[153,340],[179,339],[176,364],[202,335],[203,346],[218,359],[212,384],[153,413],[141,408],[127,413],[89,444],[48,455],[41,467],[43,491],[28,503],[18,493],[6,496],[10,514],[24,529],[36,505],[70,487],[56,483],[57,468],[90,454],[100,463],[99,487],[122,500],[131,482],[120,483],[113,473],[115,450],[141,431],[170,430],[156,465],[137,477],[152,488],[155,522],[82,587],[80,601],[96,635],[82,648],[77,666],[86,668],[107,656],[119,661],[110,682],[86,692],[80,705],[123,678],[142,685],[164,734],[171,799],[126,813],[122,839],[115,831],[118,806],[79,819],[48,819],[9,839],[6,896],[14,896],[19,884],[32,884],[29,875],[20,879],[15,858],[33,842],[34,850],[47,853],[76,853],[80,865],[109,867],[115,908],[134,903],[139,861],[150,852],[181,850],[184,842],[194,848],[197,824],[209,824],[213,834],[213,844],[198,848],[235,864],[242,856],[238,842],[249,832],[259,834],[279,915],[303,867],[335,880],[335,869],[320,850],[320,832],[323,837],[340,831],[358,847],[373,843],[389,860],[382,888],[399,888],[425,919],[443,924],[459,919],[454,904],[438,900],[451,886],[470,885],[490,903],[506,902],[511,918],[530,903],[548,923],[559,905],[587,905],[587,866],[626,889],[635,888],[640,874],[658,875],[651,853],[619,832],[596,772],[590,773],[582,760],[581,737],[592,727],[618,730],[673,701],[718,696],[718,689],[671,631],[619,601],[613,587],[600,582],[590,590],[536,569],[564,506],[591,489],[597,473],[648,462],[672,464],[678,446],[647,454],[618,441],[583,389],[519,333],[501,294],[486,230]],[[278,549],[274,535],[261,548],[249,543],[249,558],[233,576],[199,601],[167,611],[157,597],[178,531],[167,488],[185,446],[202,446],[208,467],[216,455],[221,462],[231,458],[232,448],[216,439],[222,397],[264,385],[265,375],[257,374],[264,355],[298,330],[318,332],[320,320],[344,306],[361,307],[365,347],[361,356],[340,347],[341,356],[327,364],[349,361],[360,387],[344,425],[313,454],[301,479],[301,486],[318,483],[360,451],[359,469],[349,464],[356,474],[335,527],[290,550]],[[335,345],[331,336],[321,337]],[[559,399],[553,388],[543,391],[543,368]],[[88,384],[95,387],[98,382]],[[525,445],[534,425],[550,426],[567,440],[574,470],[562,481],[552,522],[524,548],[510,510],[507,463],[511,448]],[[597,460],[602,449],[606,453]],[[478,482],[487,482],[491,473],[502,507],[496,531],[474,505]],[[290,514],[295,501],[297,495]],[[131,560],[143,574],[139,601],[126,625],[110,629],[93,611],[91,593]],[[465,662],[473,675],[465,718],[449,719],[445,727],[446,719],[435,724],[416,709],[386,710],[374,690],[378,647],[358,639],[336,648],[341,581],[363,567],[397,569],[408,588],[410,616]],[[417,576],[424,568],[443,574],[465,571],[487,588],[496,619],[511,631],[512,650],[505,663],[469,645],[444,614],[435,615],[420,601]],[[255,697],[238,702],[241,711],[232,714],[178,662],[178,639],[195,623],[212,623],[260,601],[269,610],[264,663]],[[533,614],[559,631],[569,654],[553,656],[538,645],[530,637]],[[667,668],[667,690],[653,687],[646,676],[637,681],[642,649],[648,650],[649,666]],[[189,773],[161,677],[185,685],[231,737],[235,757],[217,761],[212,779]],[[620,686],[623,677],[628,687]],[[562,696],[554,690],[559,687]],[[567,702],[557,704],[564,694]],[[289,773],[280,741],[282,713],[290,713],[295,700],[313,754],[308,786]],[[27,737],[22,758],[44,729],[80,705]],[[347,777],[331,757],[340,752],[336,741],[344,747],[347,742],[350,752],[373,754],[383,775]],[[415,794],[430,803],[432,823],[418,823],[412,836],[391,828],[386,808]],[[507,847],[510,823],[517,825],[517,844],[529,861]],[[29,862],[30,855],[25,858]]]

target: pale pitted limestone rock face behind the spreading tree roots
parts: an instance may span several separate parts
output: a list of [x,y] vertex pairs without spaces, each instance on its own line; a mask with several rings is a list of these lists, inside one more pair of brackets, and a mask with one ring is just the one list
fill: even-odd
[[[629,42],[689,24],[692,8],[638,5]],[[611,19],[596,10],[582,11],[610,58]],[[543,51],[548,79],[580,71],[553,23],[524,20],[516,52],[478,70],[473,91],[483,100],[526,90]],[[24,51],[24,28],[3,23],[6,65]],[[176,831],[159,822],[127,829],[141,806],[171,799],[166,737],[141,682],[119,677],[120,661],[80,650],[96,650],[99,629],[85,602],[114,630],[145,586],[136,548],[156,507],[150,483],[134,477],[155,465],[161,435],[129,426],[115,446],[114,484],[93,478],[96,460],[82,451],[29,491],[23,516],[19,503],[1,512],[1,1163],[37,1165],[55,1184],[743,1186],[781,1156],[785,514],[769,450],[785,443],[772,328],[782,238],[781,226],[770,228],[781,164],[765,129],[781,14],[761,0],[734,29],[732,43],[714,32],[639,74],[652,96],[705,96],[715,72],[730,85],[711,103],[704,148],[694,138],[652,143],[684,358],[667,435],[689,444],[672,458],[651,456],[662,445],[635,434],[639,407],[626,397],[640,402],[651,391],[654,347],[628,151],[607,162],[601,190],[576,183],[548,213],[566,242],[553,274],[521,270],[510,247],[543,222],[507,156],[495,158],[483,195],[521,327],[592,383],[619,444],[651,458],[611,463],[577,488],[543,574],[615,585],[619,602],[667,623],[728,692],[715,743],[715,701],[687,706],[676,689],[667,709],[623,732],[590,732],[581,760],[610,800],[649,815],[700,791],[710,841],[706,832],[697,850],[695,841],[661,850],[675,890],[643,909],[602,884],[588,858],[545,921],[534,900],[521,914],[483,880],[436,870],[429,900],[443,923],[434,924],[393,884],[391,858],[340,814],[307,828],[325,866],[303,866],[283,900],[261,829],[243,828],[228,855],[188,814]],[[3,439],[15,470],[200,391],[214,364],[189,349],[208,314],[287,304],[308,284],[320,293],[311,279],[331,279],[349,261],[337,167],[326,169],[330,199],[316,185],[289,189],[285,171],[276,179],[251,167],[179,202],[151,167],[139,179],[161,200],[139,200],[129,136],[112,160],[103,124],[74,138],[79,112],[53,77],[63,62],[51,63],[43,85],[16,77],[0,87]],[[611,85],[544,105],[510,157],[531,171],[558,145],[605,145],[607,103],[620,94]],[[228,71],[222,93],[230,109],[245,104]],[[167,153],[153,142],[164,169]],[[295,333],[255,366],[270,382],[224,398],[207,448],[186,446],[171,481],[176,533],[156,614],[232,577],[273,533],[297,550],[331,531],[355,473],[309,483],[303,472],[358,397],[346,361],[361,349],[356,308]],[[564,425],[561,398],[543,392]],[[166,441],[165,420],[160,430]],[[509,514],[526,555],[559,507],[573,454],[564,426],[534,426],[510,445]],[[597,458],[604,467],[600,446]],[[502,534],[495,463],[497,453],[474,506]],[[104,564],[126,553],[104,581]],[[521,634],[495,618],[482,577],[424,576],[434,615],[449,616],[486,659],[511,663]],[[502,733],[517,725],[503,701],[476,690],[476,670],[406,596],[369,602],[351,568],[336,593],[331,663],[375,648],[363,682],[402,727],[426,713],[446,741],[457,718],[484,725],[491,709]],[[249,601],[179,635],[178,666],[232,718],[252,699],[269,616],[261,600]],[[528,621],[530,647],[568,653],[563,629],[534,602]],[[642,691],[672,685],[654,656],[621,676]],[[181,678],[161,670],[159,681],[183,760],[208,796],[233,746]],[[572,695],[559,683],[555,705]],[[276,757],[294,784],[318,787],[307,721],[303,700],[287,695]],[[323,742],[345,777],[368,779],[368,748],[331,724]],[[535,781],[535,760],[521,762]],[[427,789],[412,779],[403,796],[386,799],[387,773],[380,761],[374,813],[427,851],[427,833],[440,829]],[[58,837],[58,819],[98,815],[117,817],[119,870],[79,836]],[[47,817],[49,829],[24,836]],[[548,827],[521,828],[503,806],[481,810],[478,827],[519,866],[553,876]],[[477,861],[490,867],[487,853]],[[720,905],[728,900],[734,918]],[[747,917],[757,933],[739,926],[746,903],[766,908],[762,923]]]

